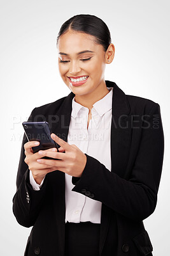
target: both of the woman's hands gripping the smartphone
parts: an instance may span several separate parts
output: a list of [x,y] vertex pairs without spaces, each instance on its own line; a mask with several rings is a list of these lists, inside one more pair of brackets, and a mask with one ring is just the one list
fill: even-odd
[[[57,152],[56,148],[50,148],[49,150],[39,150],[39,152],[33,154],[32,147],[37,146],[34,144],[37,141],[30,141],[24,145],[26,156],[25,163],[28,164],[29,170],[32,171],[36,182],[40,184],[46,173],[55,170],[59,170],[74,177],[81,177],[87,161],[85,154],[83,154],[76,145],[69,145],[55,134],[51,134],[51,137],[60,145],[59,152]],[[62,153],[64,151],[65,153]],[[60,160],[40,159],[44,156]]]

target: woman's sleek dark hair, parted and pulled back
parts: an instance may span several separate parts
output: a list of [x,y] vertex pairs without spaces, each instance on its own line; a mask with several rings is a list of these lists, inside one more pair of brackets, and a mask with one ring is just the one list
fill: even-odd
[[66,33],[68,29],[94,36],[96,43],[103,45],[104,51],[107,51],[108,46],[111,44],[111,36],[108,26],[103,20],[94,15],[79,14],[66,20],[60,28],[57,36],[57,43],[60,36]]

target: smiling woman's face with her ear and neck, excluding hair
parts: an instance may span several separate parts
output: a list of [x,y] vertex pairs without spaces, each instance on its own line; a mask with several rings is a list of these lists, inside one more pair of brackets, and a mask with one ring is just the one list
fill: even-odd
[[60,76],[75,94],[76,102],[91,109],[101,95],[108,93],[104,70],[108,60],[111,63],[114,58],[114,45],[104,51],[94,36],[69,29],[59,37],[57,49]]

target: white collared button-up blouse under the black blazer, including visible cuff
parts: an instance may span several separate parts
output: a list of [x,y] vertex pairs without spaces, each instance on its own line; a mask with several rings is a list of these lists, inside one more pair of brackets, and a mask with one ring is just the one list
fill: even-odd
[[[110,140],[113,87],[108,88],[108,90],[110,92],[106,96],[94,103],[88,129],[89,109],[75,102],[73,98],[67,143],[76,145],[83,153],[96,158],[111,171]],[[74,187],[71,180],[72,176],[65,173],[65,221],[101,223],[102,203],[81,193],[71,191]],[[39,190],[43,184],[43,181],[40,185],[35,182],[32,172],[30,172],[30,182],[34,190]]]

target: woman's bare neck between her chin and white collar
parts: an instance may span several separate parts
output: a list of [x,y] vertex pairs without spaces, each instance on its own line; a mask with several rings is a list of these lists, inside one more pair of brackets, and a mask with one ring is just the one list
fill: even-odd
[[95,90],[85,95],[75,95],[74,100],[81,104],[82,106],[89,108],[90,110],[93,107],[93,104],[98,100],[101,100],[106,94],[110,92],[106,87],[105,81],[103,81]]

